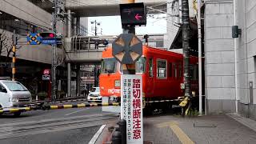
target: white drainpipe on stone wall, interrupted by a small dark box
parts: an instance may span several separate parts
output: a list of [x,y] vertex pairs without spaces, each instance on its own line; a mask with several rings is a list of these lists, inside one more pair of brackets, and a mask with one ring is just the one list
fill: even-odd
[[[234,0],[233,2],[233,10],[234,10],[234,26],[238,26],[237,19],[237,5],[238,0]],[[238,60],[237,60],[237,49],[238,49],[238,38],[234,38],[234,85],[235,85],[235,112],[238,113]]]

